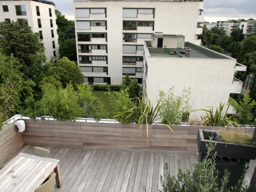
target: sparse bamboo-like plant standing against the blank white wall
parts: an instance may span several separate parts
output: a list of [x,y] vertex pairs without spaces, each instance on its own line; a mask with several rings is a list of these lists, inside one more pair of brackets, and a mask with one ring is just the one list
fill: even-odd
[[160,104],[161,119],[164,124],[180,124],[185,116],[192,111],[193,101],[191,101],[190,88],[183,89],[182,95],[175,96],[174,87],[169,89],[167,93],[160,90],[159,97],[162,98]]

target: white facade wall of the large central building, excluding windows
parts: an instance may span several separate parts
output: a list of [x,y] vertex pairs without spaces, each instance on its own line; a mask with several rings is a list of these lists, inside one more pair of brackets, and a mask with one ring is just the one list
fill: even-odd
[[[137,42],[123,42],[123,33],[151,33],[155,31],[163,32],[163,35],[184,35],[185,41],[200,44],[200,40],[196,39],[198,11],[202,2],[163,2],[163,1],[74,1],[75,20],[83,21],[107,21],[107,30],[98,28],[98,32],[107,32],[107,58],[108,64],[101,66],[108,67],[108,75],[102,73],[101,77],[111,77],[111,84],[122,83],[122,67],[141,67],[140,63],[136,66],[124,66],[122,64],[123,56],[143,56],[143,51],[137,51],[136,54],[123,54],[122,45],[143,45],[144,40],[137,39]],[[76,18],[76,8],[106,8],[106,18],[101,18],[100,14],[91,14],[90,18]],[[155,18],[151,14],[137,14],[137,18],[123,18],[123,8],[155,8]],[[154,21],[154,31],[152,27],[137,27],[137,30],[123,30],[123,21]],[[76,28],[76,22],[75,22]],[[91,30],[77,30],[78,32],[96,32],[95,28]],[[78,44],[77,43],[77,50]],[[91,42],[83,42],[82,44],[94,44]],[[79,55],[93,55],[92,53],[84,53]],[[78,57],[79,61],[79,57]],[[84,65],[83,65],[84,66]],[[87,66],[94,66],[87,65]],[[92,74],[84,73],[84,76]],[[93,76],[99,74],[93,73]],[[131,75],[131,78],[141,78],[141,74]]]

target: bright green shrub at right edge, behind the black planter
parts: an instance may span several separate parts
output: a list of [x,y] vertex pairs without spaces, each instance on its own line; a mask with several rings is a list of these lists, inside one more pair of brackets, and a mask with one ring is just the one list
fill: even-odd
[[242,101],[239,101],[238,103],[231,99],[230,104],[235,108],[237,113],[240,114],[237,117],[239,124],[251,124],[253,120],[252,109],[255,108],[256,102],[254,99],[251,99],[250,95],[247,93],[244,94]]

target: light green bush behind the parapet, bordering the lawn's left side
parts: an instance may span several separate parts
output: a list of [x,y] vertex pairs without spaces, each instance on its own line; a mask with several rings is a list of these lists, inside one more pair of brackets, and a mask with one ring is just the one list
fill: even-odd
[[105,118],[103,103],[92,92],[90,85],[78,85],[79,105],[83,109],[82,116],[99,120]]

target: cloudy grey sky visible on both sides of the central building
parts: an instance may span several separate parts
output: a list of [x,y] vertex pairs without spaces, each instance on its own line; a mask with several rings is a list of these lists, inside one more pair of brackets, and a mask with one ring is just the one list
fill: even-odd
[[[74,20],[73,0],[52,0],[55,8],[67,19]],[[256,0],[204,0],[204,21],[256,19]]]

